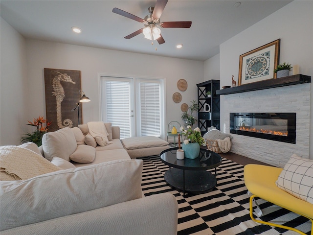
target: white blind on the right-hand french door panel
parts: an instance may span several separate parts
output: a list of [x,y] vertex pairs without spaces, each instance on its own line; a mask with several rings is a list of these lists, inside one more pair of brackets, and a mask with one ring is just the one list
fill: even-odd
[[160,84],[139,82],[141,136],[160,136]]

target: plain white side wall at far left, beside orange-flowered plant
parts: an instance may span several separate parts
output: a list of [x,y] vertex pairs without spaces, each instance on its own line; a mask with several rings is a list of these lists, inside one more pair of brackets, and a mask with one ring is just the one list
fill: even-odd
[[31,105],[27,101],[25,40],[2,18],[0,24],[0,145],[19,144],[28,127],[24,123]]

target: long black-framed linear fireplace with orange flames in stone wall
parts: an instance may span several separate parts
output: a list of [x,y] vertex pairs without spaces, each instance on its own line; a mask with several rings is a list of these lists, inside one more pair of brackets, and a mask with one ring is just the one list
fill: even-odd
[[295,143],[295,113],[230,113],[230,133]]

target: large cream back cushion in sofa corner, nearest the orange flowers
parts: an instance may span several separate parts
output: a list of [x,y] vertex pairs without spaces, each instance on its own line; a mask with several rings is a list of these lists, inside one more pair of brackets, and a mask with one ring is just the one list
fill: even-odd
[[53,157],[59,157],[69,161],[69,155],[76,150],[76,147],[75,135],[68,127],[45,133],[43,136],[45,158],[49,161]]

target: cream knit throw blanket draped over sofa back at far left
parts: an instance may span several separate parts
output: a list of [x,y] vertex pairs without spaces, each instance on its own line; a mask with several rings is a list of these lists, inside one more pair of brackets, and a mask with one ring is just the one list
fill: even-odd
[[0,180],[27,180],[58,170],[62,169],[29,149],[0,147]]

